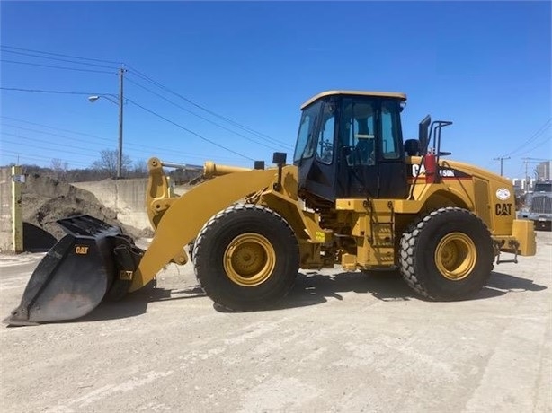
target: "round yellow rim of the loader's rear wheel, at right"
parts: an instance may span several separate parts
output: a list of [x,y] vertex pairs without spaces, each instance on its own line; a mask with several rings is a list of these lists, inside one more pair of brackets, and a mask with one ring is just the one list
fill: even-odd
[[476,244],[465,233],[449,233],[435,250],[435,264],[443,277],[458,281],[476,267]]

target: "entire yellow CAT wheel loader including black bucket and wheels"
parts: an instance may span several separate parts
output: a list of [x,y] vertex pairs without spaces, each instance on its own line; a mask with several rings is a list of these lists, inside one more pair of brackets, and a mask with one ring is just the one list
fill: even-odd
[[148,162],[146,208],[155,236],[139,250],[90,216],[61,220],[67,236],[31,276],[6,322],[75,319],[105,299],[146,286],[188,254],[206,294],[234,311],[262,309],[289,293],[299,268],[398,269],[416,293],[460,300],[487,282],[501,252],[534,255],[533,225],[515,219],[512,183],[447,158],[428,116],[403,140],[406,97],[323,92],[301,107],[293,163],[205,163],[204,180],[181,197]]

